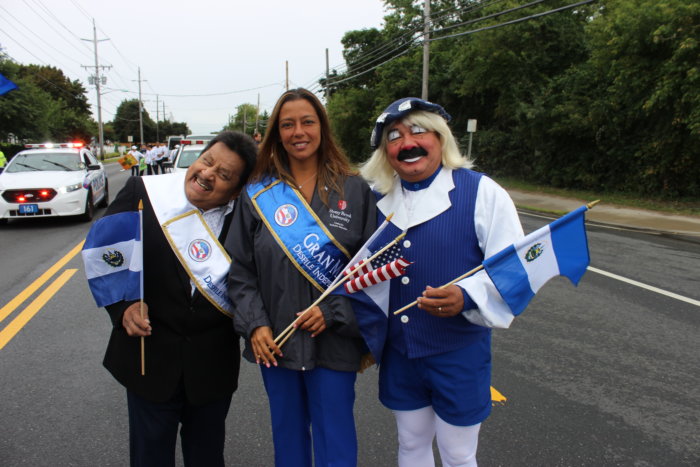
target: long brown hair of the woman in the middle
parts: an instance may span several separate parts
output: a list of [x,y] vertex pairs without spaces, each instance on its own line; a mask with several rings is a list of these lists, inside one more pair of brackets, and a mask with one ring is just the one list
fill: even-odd
[[280,96],[272,110],[267,124],[265,137],[260,143],[258,162],[251,174],[251,180],[263,180],[267,176],[273,176],[294,185],[294,178],[289,171],[289,155],[282,145],[280,137],[280,112],[287,102],[304,99],[311,104],[318,115],[321,126],[321,144],[318,147],[318,178],[317,191],[324,204],[328,205],[328,192],[323,187],[328,187],[343,194],[343,179],[356,172],[350,167],[347,157],[336,144],[331,132],[330,121],[326,109],[321,101],[303,88],[290,89]]

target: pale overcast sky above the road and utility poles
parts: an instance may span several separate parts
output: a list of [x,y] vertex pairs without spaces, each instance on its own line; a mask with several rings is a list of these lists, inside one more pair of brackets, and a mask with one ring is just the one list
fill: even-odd
[[286,69],[290,88],[317,90],[326,49],[330,69],[344,71],[343,35],[380,28],[385,14],[381,0],[0,0],[0,48],[79,80],[97,120],[94,20],[99,65],[110,67],[100,69],[102,121],[138,99],[140,68],[151,118],[163,120],[165,107],[201,134],[221,130],[244,103],[271,112]]

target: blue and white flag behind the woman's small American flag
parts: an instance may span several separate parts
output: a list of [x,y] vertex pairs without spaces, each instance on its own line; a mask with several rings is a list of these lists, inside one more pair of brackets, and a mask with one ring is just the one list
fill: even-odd
[[[390,225],[391,228],[387,229]],[[397,233],[397,229],[392,224],[384,221],[348,262],[349,267],[354,267],[364,259],[372,256],[394,240],[399,233]],[[344,277],[347,277],[347,274],[341,273],[336,281]],[[348,293],[345,287],[338,287],[333,292],[336,295],[342,295],[350,299],[360,333],[377,363],[381,362],[384,342],[388,332],[389,321],[387,316],[389,314],[390,283],[391,281],[385,280],[354,293]]]

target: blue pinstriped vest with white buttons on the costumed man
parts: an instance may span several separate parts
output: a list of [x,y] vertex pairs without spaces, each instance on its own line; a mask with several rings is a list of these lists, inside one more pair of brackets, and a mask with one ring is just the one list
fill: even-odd
[[[461,314],[438,318],[417,306],[399,315],[393,314],[394,310],[419,297],[426,286],[439,287],[483,261],[474,228],[474,206],[481,175],[467,169],[454,170],[455,188],[450,191],[452,206],[429,221],[409,228],[401,241],[404,258],[414,264],[406,270],[405,276],[391,281],[388,341],[409,358],[460,349],[490,332]],[[381,212],[379,218],[380,222],[384,221]],[[393,224],[389,227],[396,230],[396,235],[400,233]],[[471,308],[476,308],[476,304],[469,299],[464,309]]]

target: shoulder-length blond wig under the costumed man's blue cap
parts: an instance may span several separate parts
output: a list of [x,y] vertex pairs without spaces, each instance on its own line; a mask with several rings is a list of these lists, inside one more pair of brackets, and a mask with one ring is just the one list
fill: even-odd
[[[450,169],[466,168],[470,169],[474,166],[473,162],[467,159],[459,152],[457,141],[452,135],[450,127],[444,118],[434,112],[426,112],[417,110],[406,115],[400,120],[406,126],[418,125],[428,131],[437,133],[442,146],[442,165]],[[370,186],[385,195],[394,184],[394,177],[397,176],[393,167],[387,160],[386,153],[386,136],[391,127],[389,125],[382,132],[381,142],[379,147],[372,153],[370,158],[360,167],[360,173],[367,180]]]

